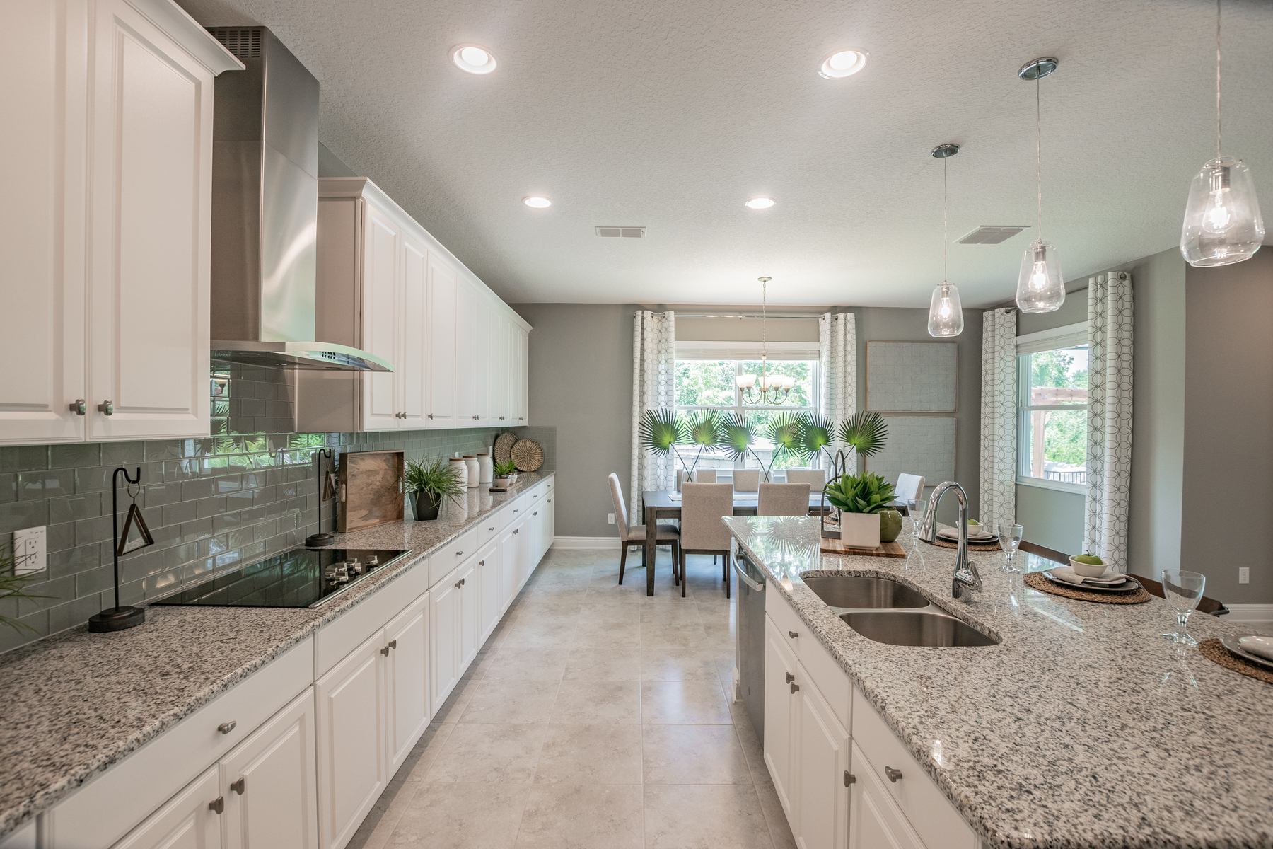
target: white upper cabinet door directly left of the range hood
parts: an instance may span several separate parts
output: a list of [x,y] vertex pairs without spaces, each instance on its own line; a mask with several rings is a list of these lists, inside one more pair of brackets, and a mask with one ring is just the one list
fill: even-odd
[[125,0],[94,27],[88,438],[206,437],[214,76]]

